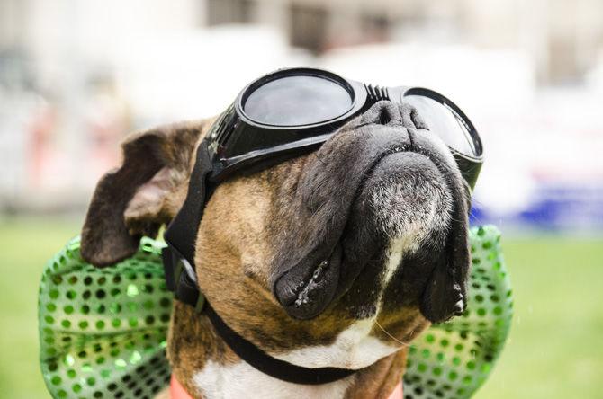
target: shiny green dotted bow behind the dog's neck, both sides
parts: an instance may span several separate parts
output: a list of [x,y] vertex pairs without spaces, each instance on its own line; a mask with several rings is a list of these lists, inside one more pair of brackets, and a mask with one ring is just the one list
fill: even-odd
[[[473,269],[463,316],[434,325],[410,347],[407,398],[468,398],[482,385],[509,332],[512,294],[494,226],[470,234]],[[97,269],[76,237],[49,261],[40,283],[40,363],[53,397],[151,398],[169,382],[166,332],[172,294],[161,248]]]

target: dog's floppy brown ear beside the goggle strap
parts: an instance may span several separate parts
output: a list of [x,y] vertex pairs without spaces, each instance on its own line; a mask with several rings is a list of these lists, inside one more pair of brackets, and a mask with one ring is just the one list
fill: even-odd
[[208,120],[135,133],[121,145],[121,166],[106,173],[82,229],[85,261],[107,266],[136,253],[184,202],[193,155]]

